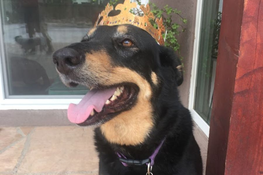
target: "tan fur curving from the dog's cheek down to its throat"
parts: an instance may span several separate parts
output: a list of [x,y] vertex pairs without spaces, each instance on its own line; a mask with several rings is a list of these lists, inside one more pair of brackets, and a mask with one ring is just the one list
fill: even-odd
[[[139,86],[140,92],[136,105],[124,111],[112,120],[101,125],[101,132],[111,143],[120,145],[138,145],[148,136],[153,127],[152,106],[150,104],[150,84],[138,73],[127,68],[117,67],[113,70],[113,82],[131,82]],[[129,76],[125,76],[129,75]]]

